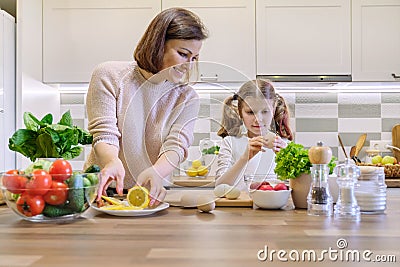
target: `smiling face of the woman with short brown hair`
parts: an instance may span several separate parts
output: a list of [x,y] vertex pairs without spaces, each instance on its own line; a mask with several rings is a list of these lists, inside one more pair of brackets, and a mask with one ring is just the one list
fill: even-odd
[[172,39],[165,43],[162,69],[168,69],[166,79],[173,83],[182,80],[192,68],[192,62],[197,61],[201,49],[200,40]]

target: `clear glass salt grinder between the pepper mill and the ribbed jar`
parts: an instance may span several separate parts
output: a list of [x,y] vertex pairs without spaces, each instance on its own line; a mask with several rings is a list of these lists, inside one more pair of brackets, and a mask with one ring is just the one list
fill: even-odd
[[337,184],[339,186],[339,197],[335,205],[335,220],[360,221],[360,206],[354,194],[354,186],[360,177],[360,168],[354,165],[350,159],[344,164],[336,166]]

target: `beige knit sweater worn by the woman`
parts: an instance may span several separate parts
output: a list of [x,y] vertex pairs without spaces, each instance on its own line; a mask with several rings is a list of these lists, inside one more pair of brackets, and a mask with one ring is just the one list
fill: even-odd
[[[186,158],[199,97],[190,86],[148,82],[135,62],[105,62],[93,72],[86,108],[93,146],[106,142],[119,148],[124,188],[130,188],[162,153],[175,151],[181,161]],[[95,163],[92,149],[85,168]]]

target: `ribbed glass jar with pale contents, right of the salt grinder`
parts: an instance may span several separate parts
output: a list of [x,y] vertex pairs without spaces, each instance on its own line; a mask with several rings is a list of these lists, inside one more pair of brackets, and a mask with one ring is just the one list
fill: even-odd
[[384,167],[359,166],[361,175],[355,186],[355,196],[361,213],[379,214],[386,210]]

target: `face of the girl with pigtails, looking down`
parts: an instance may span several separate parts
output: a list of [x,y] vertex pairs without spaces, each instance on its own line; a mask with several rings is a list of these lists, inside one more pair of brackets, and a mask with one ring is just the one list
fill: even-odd
[[242,105],[241,116],[244,126],[247,128],[248,137],[265,134],[274,116],[273,101],[246,97]]

